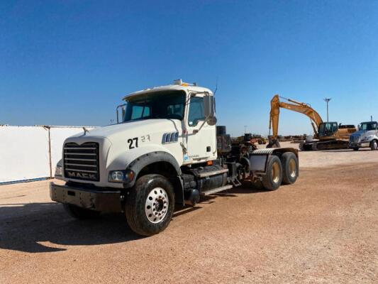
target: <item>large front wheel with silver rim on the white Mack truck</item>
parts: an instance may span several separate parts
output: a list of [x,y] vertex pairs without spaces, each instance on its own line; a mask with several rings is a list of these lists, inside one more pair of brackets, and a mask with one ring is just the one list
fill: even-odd
[[130,190],[126,219],[135,233],[152,236],[167,228],[174,211],[172,183],[162,175],[143,175]]

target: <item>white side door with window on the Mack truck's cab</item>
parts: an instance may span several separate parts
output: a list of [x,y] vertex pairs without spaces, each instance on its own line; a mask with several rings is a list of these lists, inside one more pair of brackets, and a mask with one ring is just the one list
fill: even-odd
[[204,116],[204,95],[191,97],[187,111],[187,156],[184,161],[216,158],[216,126],[210,126]]

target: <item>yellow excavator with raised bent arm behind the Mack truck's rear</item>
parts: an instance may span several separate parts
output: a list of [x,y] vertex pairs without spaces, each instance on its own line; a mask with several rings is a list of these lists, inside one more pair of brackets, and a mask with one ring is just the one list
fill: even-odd
[[[287,102],[280,102],[280,98],[285,99]],[[310,106],[310,104],[296,102],[294,99],[279,97],[279,95],[276,94],[270,101],[269,134],[271,129],[273,130],[273,133],[272,136],[269,136],[267,148],[279,147],[277,137],[280,108],[300,112],[301,114],[308,116],[311,120],[314,133],[313,138],[316,140],[304,141],[301,143],[299,148],[304,151],[348,149],[349,136],[357,130],[354,125],[342,125],[337,122],[323,122],[321,116]]]

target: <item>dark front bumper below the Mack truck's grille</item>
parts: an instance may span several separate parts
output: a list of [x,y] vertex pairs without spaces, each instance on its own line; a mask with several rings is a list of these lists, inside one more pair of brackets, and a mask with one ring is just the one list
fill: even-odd
[[50,198],[56,202],[95,211],[107,213],[122,211],[120,190],[88,190],[50,182]]

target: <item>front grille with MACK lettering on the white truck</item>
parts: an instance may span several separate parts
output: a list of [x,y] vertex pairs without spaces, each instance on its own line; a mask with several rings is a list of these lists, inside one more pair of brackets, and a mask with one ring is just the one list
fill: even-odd
[[100,180],[99,143],[65,143],[63,153],[65,178]]

